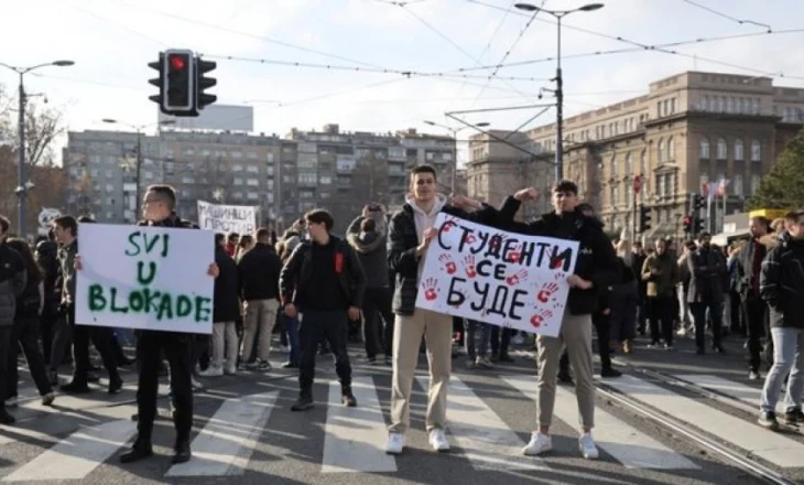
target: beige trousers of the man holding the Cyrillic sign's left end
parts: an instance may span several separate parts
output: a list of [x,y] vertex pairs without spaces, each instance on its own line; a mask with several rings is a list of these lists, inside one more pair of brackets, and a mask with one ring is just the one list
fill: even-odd
[[427,343],[430,364],[425,425],[427,432],[446,428],[447,385],[453,365],[453,317],[416,309],[413,315],[396,315],[394,321],[391,425],[388,428],[393,433],[404,433],[410,425],[411,388],[422,335]]

